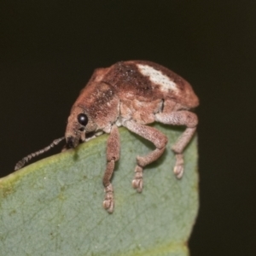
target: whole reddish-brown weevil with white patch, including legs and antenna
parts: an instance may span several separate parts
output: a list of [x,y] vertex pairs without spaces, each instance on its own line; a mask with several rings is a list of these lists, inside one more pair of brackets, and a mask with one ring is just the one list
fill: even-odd
[[114,163],[119,160],[119,126],[154,143],[155,149],[137,156],[132,186],[143,190],[143,168],[157,160],[165,151],[167,137],[148,126],[154,122],[185,125],[186,130],[172,146],[176,155],[174,173],[183,176],[183,149],[193,137],[197,116],[189,111],[199,105],[191,85],[166,67],[150,61],[120,61],[108,68],[99,68],[81,91],[68,117],[65,137],[48,147],[26,156],[15,166],[20,169],[32,157],[42,154],[66,138],[66,148],[75,148],[81,142],[109,133],[107,167],[103,176],[105,199],[103,207],[113,212],[113,185],[110,182]]

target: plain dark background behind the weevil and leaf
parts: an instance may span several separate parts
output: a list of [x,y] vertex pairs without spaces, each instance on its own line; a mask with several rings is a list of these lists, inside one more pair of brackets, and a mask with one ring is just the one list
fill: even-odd
[[63,136],[96,67],[155,61],[201,99],[191,254],[256,255],[256,1],[1,1],[0,30],[1,176]]

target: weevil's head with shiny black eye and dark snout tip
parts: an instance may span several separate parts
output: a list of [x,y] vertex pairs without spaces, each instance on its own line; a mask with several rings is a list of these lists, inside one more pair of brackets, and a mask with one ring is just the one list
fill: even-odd
[[96,123],[90,118],[90,114],[83,108],[74,106],[67,119],[67,148],[77,147],[79,142],[85,141],[86,132],[91,131],[96,131]]

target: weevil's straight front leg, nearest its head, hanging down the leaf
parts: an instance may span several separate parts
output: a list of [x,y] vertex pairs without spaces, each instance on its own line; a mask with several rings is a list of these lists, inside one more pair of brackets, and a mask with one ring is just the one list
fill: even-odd
[[108,163],[103,177],[103,185],[105,188],[105,199],[103,201],[103,207],[109,213],[113,212],[113,185],[110,183],[110,180],[113,175],[114,162],[119,160],[119,144],[119,130],[116,125],[113,125],[107,141]]

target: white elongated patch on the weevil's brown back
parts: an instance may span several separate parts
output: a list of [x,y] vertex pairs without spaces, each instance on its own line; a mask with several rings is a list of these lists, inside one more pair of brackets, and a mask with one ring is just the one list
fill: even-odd
[[169,79],[165,74],[161,73],[159,70],[154,69],[148,65],[137,64],[140,72],[148,77],[154,84],[160,85],[160,90],[168,92],[173,90],[178,91],[177,84],[175,84],[171,79]]

